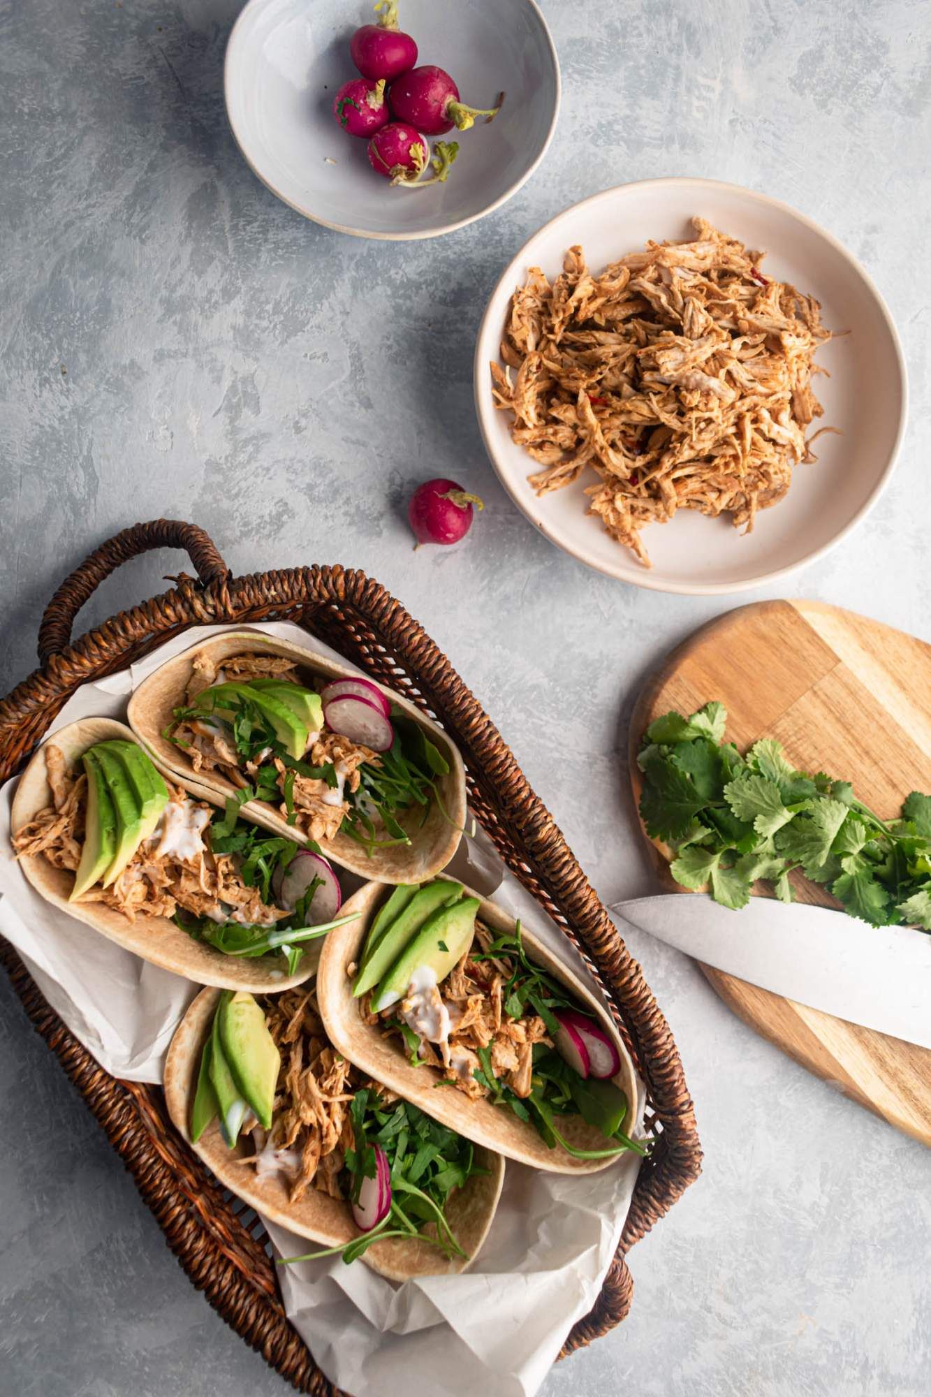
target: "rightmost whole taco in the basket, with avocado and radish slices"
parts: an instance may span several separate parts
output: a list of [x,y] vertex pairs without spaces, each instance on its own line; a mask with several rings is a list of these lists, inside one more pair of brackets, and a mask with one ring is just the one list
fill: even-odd
[[[403,894],[403,895],[398,895]],[[607,1168],[632,1139],[637,1078],[601,1003],[519,922],[436,879],[327,937],[320,1013],[361,1071],[436,1120],[521,1164]]]

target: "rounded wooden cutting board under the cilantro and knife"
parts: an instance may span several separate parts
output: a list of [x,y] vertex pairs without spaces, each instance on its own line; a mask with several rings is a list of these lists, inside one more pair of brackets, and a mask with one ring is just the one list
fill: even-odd
[[[777,738],[798,768],[853,781],[883,819],[900,813],[910,791],[931,792],[931,645],[914,636],[805,601],[756,602],[710,622],[668,657],[637,700],[630,724],[637,799],[636,749],[646,726],[671,708],[689,714],[712,698],[727,708],[727,738],[741,752],[758,738]],[[654,849],[664,887],[685,893],[663,847]],[[793,883],[798,901],[837,905],[818,884],[797,875]],[[931,1146],[931,1052],[709,965],[702,971],[765,1038]]]

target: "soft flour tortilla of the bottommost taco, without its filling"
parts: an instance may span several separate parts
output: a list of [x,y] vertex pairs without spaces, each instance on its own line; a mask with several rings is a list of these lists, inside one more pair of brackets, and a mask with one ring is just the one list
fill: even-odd
[[[287,1180],[281,1175],[266,1175],[259,1179],[252,1165],[238,1164],[238,1160],[249,1154],[246,1144],[239,1140],[236,1148],[229,1150],[215,1120],[204,1130],[197,1144],[192,1144],[189,1122],[197,1091],[200,1055],[218,999],[215,989],[201,990],[178,1025],[168,1049],[165,1099],[175,1126],[219,1182],[257,1213],[320,1246],[344,1246],[352,1242],[362,1234],[352,1220],[348,1203],[331,1199],[313,1187],[308,1189],[299,1203],[289,1203]],[[500,1155],[478,1150],[475,1158],[488,1173],[470,1179],[464,1189],[450,1197],[446,1208],[453,1235],[468,1253],[466,1260],[461,1257],[447,1260],[435,1246],[414,1238],[373,1242],[362,1260],[390,1281],[405,1281],[410,1275],[453,1275],[467,1270],[488,1236],[505,1182],[505,1161]]]

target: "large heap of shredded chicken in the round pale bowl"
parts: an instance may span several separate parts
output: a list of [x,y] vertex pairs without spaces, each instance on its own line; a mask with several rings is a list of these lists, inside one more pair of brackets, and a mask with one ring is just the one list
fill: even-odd
[[589,511],[644,567],[640,529],[678,509],[749,532],[815,460],[807,430],[822,415],[819,303],[763,277],[762,253],[692,225],[693,242],[647,243],[597,277],[577,246],[552,285],[533,267],[512,298],[505,367],[491,366],[495,405],[541,467],[537,495],[591,467]]

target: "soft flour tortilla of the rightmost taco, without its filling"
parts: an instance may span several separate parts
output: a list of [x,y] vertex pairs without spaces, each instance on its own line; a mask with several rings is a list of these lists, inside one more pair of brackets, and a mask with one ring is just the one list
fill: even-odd
[[[468,888],[466,890],[468,893]],[[477,893],[471,894],[478,897]],[[407,1097],[445,1126],[459,1130],[475,1144],[484,1144],[509,1160],[530,1164],[554,1173],[594,1173],[614,1164],[619,1155],[607,1160],[576,1160],[562,1146],[548,1148],[542,1136],[528,1122],[519,1120],[507,1106],[496,1106],[486,1098],[472,1099],[456,1087],[438,1088],[439,1073],[432,1067],[412,1067],[397,1037],[386,1038],[379,1024],[366,1024],[359,1013],[359,1000],[352,997],[352,981],[347,967],[358,963],[359,951],[372,918],[384,901],[384,888],[377,884],[359,888],[342,911],[361,911],[356,922],[337,926],[324,939],[317,970],[317,1004],[324,1027],[340,1052],[368,1076],[383,1081],[391,1091]],[[513,932],[514,919],[493,902],[482,901],[478,919],[493,932]],[[600,1002],[584,985],[556,960],[547,947],[521,926],[524,950],[530,958],[562,981],[580,1009],[596,1017],[611,1034],[621,1053],[621,1071],[614,1081],[628,1098],[625,1123],[637,1119],[637,1078],[633,1063]],[[608,1143],[600,1130],[586,1125],[582,1116],[559,1116],[558,1130],[577,1150],[604,1150]]]

